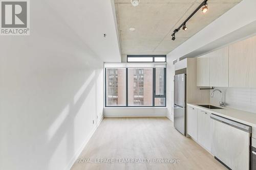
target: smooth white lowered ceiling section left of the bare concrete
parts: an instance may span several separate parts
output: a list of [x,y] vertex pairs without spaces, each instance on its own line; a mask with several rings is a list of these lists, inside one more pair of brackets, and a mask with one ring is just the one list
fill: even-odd
[[[30,1],[34,10],[37,1]],[[105,62],[120,62],[114,0],[45,0],[46,8],[41,12],[54,10],[58,20],[67,23],[72,32],[79,36]],[[37,11],[35,11],[37,12]],[[31,13],[34,15],[34,13]],[[31,22],[33,25],[33,22]],[[61,27],[55,29],[61,30]],[[103,37],[106,34],[106,37]]]

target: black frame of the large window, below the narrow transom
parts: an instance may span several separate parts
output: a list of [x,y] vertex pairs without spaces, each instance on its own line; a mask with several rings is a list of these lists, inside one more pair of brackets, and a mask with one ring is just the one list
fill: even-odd
[[[129,67],[122,67],[122,68],[125,68],[125,75],[126,75],[126,78],[125,78],[125,84],[126,84],[126,89],[125,89],[125,91],[126,91],[126,93],[125,93],[125,99],[126,99],[126,101],[125,101],[125,104],[126,104],[126,106],[107,106],[106,105],[106,69],[107,68],[109,68],[109,67],[105,67],[105,97],[104,97],[104,104],[105,104],[105,107],[166,107],[166,67],[163,67],[164,68],[164,94],[163,95],[156,95],[156,68],[155,67],[152,67],[153,68],[153,77],[152,77],[152,83],[153,83],[153,94],[152,94],[152,106],[129,106],[128,105],[128,89],[129,89],[129,87],[128,87],[128,68]],[[118,68],[120,68],[120,67],[118,67]],[[133,67],[133,68],[136,68],[136,67]],[[145,67],[146,68],[146,67]],[[165,103],[164,103],[164,106],[155,106],[155,98],[165,98]]]

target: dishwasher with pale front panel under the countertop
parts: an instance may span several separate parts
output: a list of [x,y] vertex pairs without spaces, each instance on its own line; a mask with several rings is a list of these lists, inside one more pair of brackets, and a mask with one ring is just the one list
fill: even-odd
[[251,127],[211,114],[211,153],[229,169],[250,167]]

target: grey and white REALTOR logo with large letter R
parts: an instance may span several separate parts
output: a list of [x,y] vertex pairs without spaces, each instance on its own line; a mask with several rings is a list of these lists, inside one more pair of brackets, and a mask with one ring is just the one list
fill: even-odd
[[30,8],[29,0],[0,0],[1,33],[0,35],[29,35]]

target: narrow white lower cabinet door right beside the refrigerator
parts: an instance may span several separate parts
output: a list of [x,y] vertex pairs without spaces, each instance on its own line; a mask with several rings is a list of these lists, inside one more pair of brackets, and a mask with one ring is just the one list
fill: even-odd
[[187,107],[187,134],[197,141],[197,109]]

